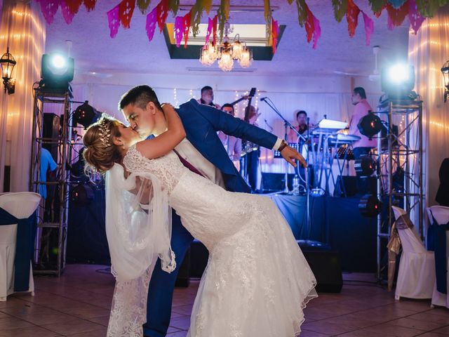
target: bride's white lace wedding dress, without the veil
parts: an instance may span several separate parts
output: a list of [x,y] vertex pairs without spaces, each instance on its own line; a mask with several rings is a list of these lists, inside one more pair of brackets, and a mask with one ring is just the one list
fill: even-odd
[[[302,310],[316,297],[316,279],[271,199],[227,192],[185,168],[174,152],[147,159],[134,145],[123,165],[136,176],[150,173],[159,179],[182,225],[210,253],[187,336],[293,337],[300,333]],[[152,265],[145,266],[137,280],[117,282],[108,336],[141,336]],[[112,267],[119,267],[114,259]],[[123,303],[129,298],[134,299],[133,310]],[[123,328],[123,321],[135,322],[134,327]]]

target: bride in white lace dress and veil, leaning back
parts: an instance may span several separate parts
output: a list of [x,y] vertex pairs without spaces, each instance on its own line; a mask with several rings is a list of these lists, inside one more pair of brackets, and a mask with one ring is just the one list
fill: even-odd
[[168,128],[151,140],[107,116],[83,137],[86,162],[107,173],[107,336],[142,336],[155,261],[175,268],[170,207],[210,253],[187,336],[297,336],[316,280],[288,223],[268,197],[227,192],[183,166],[173,149],[185,130],[173,107],[163,112]]

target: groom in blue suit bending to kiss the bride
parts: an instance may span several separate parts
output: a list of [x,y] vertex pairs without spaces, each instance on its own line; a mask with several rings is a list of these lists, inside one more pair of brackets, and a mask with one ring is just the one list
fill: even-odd
[[[166,131],[167,122],[161,104],[156,93],[149,86],[135,86],[123,94],[119,109],[129,121],[130,126],[143,138],[152,134],[158,136]],[[223,131],[229,136],[245,138],[268,149],[279,150],[282,157],[293,166],[295,166],[295,160],[299,160],[300,164],[305,166],[301,154],[289,147],[284,140],[262,128],[234,118],[226,112],[208,105],[201,105],[194,99],[182,104],[176,111],[186,132],[186,138],[175,147],[178,156],[182,157],[183,164],[193,166],[203,176],[226,190],[250,192],[250,187],[229,159],[225,147],[217,136],[217,131]],[[143,326],[144,336],[166,336],[177,272],[193,239],[182,226],[180,217],[173,211],[171,247],[176,255],[177,267],[170,274],[161,269],[159,260],[154,267],[149,284],[147,323]]]

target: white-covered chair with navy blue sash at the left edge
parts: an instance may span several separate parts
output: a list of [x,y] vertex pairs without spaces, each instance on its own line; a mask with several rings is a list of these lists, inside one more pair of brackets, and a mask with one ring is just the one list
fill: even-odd
[[41,196],[32,192],[0,194],[0,300],[20,291],[34,295],[32,255],[36,211]]

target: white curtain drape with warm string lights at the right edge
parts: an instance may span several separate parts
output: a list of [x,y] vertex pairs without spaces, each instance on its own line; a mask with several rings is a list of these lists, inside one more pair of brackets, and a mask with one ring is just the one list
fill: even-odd
[[415,91],[423,99],[424,184],[427,206],[436,203],[441,161],[449,157],[449,102],[443,103],[441,67],[449,59],[449,7],[410,32],[408,58],[415,66]]

